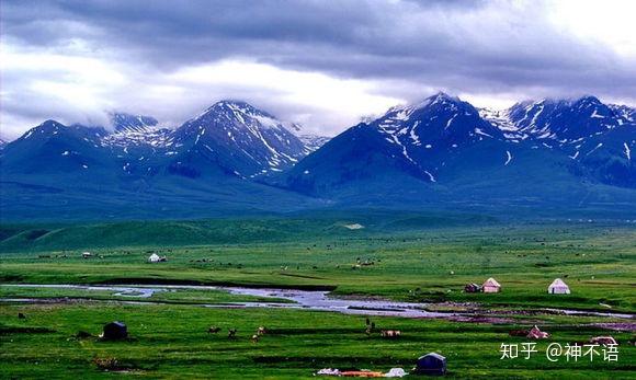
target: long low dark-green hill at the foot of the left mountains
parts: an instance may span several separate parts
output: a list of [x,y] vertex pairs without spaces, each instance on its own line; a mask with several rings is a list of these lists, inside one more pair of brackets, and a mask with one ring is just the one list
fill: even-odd
[[497,219],[484,215],[349,210],[191,221],[4,224],[0,252],[309,241],[495,222]]

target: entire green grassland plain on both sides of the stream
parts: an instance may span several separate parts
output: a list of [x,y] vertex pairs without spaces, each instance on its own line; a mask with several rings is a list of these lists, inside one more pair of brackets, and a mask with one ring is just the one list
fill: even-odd
[[[314,378],[323,367],[410,370],[429,352],[447,357],[451,378],[636,378],[634,333],[595,323],[633,320],[563,315],[544,308],[636,312],[636,229],[629,224],[502,224],[482,218],[407,215],[317,219],[3,226],[2,284],[200,284],[329,289],[338,297],[476,309],[480,321],[373,316],[401,338],[365,334],[363,315],[289,309],[211,309],[202,303],[262,301],[224,291],[159,292],[161,304],[124,304],[109,291],[0,286],[0,377]],[[360,223],[362,229],[345,226]],[[46,231],[46,232],[44,232]],[[135,239],[137,237],[137,239]],[[172,242],[172,243],[171,243]],[[92,257],[82,258],[90,251]],[[166,263],[147,263],[151,252]],[[373,264],[371,264],[373,263]],[[370,264],[370,265],[364,265]],[[495,277],[496,295],[465,293]],[[571,295],[548,295],[556,277]],[[18,319],[22,312],[26,319]],[[76,338],[124,321],[126,342]],[[479,323],[478,323],[479,322]],[[530,360],[500,360],[502,343],[529,342],[509,331],[538,324],[552,333]],[[207,334],[216,325],[224,331]],[[270,332],[258,343],[258,326]],[[227,329],[238,329],[236,339]],[[549,343],[612,335],[617,362],[550,362]],[[98,358],[98,360],[95,360]],[[117,360],[116,375],[96,365]],[[100,361],[101,362],[101,361]]]

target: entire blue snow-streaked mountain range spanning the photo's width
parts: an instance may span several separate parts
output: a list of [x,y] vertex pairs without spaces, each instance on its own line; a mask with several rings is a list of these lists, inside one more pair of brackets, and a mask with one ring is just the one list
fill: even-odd
[[[192,196],[200,206],[293,207],[307,194],[319,204],[409,208],[636,205],[634,110],[592,96],[492,111],[439,93],[325,140],[237,101],[179,128],[125,114],[113,128],[47,120],[0,150],[0,181],[10,200],[46,193],[68,206],[83,196],[92,210],[139,196],[154,211],[157,199]],[[102,200],[78,195],[82,186]]]

